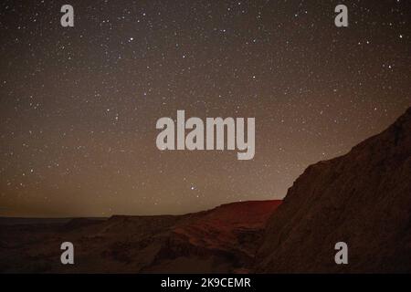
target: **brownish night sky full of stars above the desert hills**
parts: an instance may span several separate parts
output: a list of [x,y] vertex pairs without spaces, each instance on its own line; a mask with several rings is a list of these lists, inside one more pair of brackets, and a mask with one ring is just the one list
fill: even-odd
[[[2,1],[0,215],[283,198],[411,105],[410,21],[406,0]],[[159,151],[156,120],[177,110],[255,117],[254,159]]]

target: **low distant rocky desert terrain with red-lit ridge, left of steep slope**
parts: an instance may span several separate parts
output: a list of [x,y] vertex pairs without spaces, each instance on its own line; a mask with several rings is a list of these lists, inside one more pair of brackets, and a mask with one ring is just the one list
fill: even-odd
[[[0,220],[0,272],[248,272],[279,203],[228,203],[185,215]],[[60,264],[65,241],[75,248],[73,266]]]

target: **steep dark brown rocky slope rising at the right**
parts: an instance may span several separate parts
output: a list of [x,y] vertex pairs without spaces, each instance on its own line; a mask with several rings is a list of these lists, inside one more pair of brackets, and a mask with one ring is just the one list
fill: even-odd
[[[336,265],[334,245],[348,245]],[[308,167],[270,217],[263,273],[411,272],[411,108],[382,133]]]

